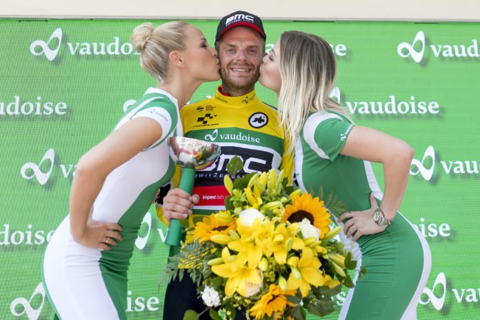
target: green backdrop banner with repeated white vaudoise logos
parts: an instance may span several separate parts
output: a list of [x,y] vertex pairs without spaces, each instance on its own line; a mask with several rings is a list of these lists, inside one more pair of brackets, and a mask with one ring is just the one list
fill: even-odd
[[[146,88],[128,20],[0,20],[1,319],[52,319],[41,261],[68,213],[76,163]],[[165,21],[152,21],[159,25]],[[213,45],[217,21],[189,21]],[[475,319],[480,308],[480,23],[265,21],[318,34],[338,63],[332,97],[354,121],[415,150],[401,212],[432,250],[419,319]],[[191,101],[210,96],[205,83]],[[276,97],[257,85],[259,97]],[[381,166],[374,165],[379,183]],[[128,319],[159,319],[166,228],[147,212],[129,271]],[[346,294],[335,301],[339,308]],[[338,308],[338,309],[339,309]],[[368,308],[368,307],[366,307]],[[337,319],[338,312],[326,317]],[[309,319],[314,319],[311,317]]]

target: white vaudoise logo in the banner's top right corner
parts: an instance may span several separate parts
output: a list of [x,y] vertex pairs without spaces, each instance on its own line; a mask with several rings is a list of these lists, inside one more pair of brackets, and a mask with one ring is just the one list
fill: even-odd
[[421,63],[426,58],[427,49],[431,50],[434,58],[478,58],[480,57],[477,39],[469,43],[429,43],[426,41],[425,32],[415,34],[413,42],[402,42],[397,46],[397,53],[402,58],[411,57],[413,61]]

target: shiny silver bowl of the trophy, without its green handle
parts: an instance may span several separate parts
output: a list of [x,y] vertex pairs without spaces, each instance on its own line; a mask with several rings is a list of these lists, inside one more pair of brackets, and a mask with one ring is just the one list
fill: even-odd
[[170,157],[182,168],[202,170],[210,166],[220,155],[220,146],[199,139],[170,137]]

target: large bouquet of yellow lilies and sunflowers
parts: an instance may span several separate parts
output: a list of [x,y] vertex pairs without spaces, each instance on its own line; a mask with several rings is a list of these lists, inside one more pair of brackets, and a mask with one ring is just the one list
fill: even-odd
[[[243,164],[228,163],[236,177]],[[284,172],[224,177],[226,210],[187,229],[181,252],[170,258],[170,278],[188,272],[212,319],[306,319],[333,312],[332,296],[353,286],[356,261],[333,239],[323,201],[287,186]],[[198,319],[188,310],[184,319]]]

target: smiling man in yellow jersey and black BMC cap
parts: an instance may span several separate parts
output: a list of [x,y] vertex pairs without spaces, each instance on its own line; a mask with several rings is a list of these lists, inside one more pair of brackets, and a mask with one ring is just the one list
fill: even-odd
[[[277,126],[277,110],[260,101],[254,89],[265,41],[263,23],[256,15],[237,11],[221,19],[215,37],[221,86],[212,98],[184,106],[180,114],[185,136],[217,143],[221,155],[212,166],[197,172],[193,196],[175,188],[163,197],[158,210],[161,220],[224,210],[228,192],[223,176],[228,174],[226,165],[235,155],[244,165],[240,176],[278,168],[285,169],[286,177],[291,179],[292,155],[286,154],[283,130]],[[168,284],[163,319],[183,319],[189,309],[202,312],[206,306],[186,274],[182,281],[176,279]],[[245,319],[241,312],[237,313],[236,319]],[[208,312],[200,319],[209,319]]]

